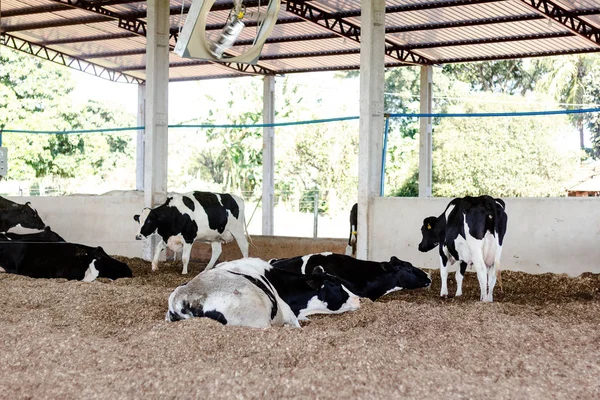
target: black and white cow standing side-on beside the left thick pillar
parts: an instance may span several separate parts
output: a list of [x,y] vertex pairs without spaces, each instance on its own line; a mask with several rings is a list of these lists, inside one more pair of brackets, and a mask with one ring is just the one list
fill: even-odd
[[244,201],[228,193],[189,192],[169,196],[156,208],[144,208],[133,219],[140,223],[136,239],[158,233],[152,270],[158,269],[160,253],[167,247],[183,251],[182,274],[187,274],[192,245],[195,241],[211,244],[212,256],[206,269],[212,268],[221,255],[221,243],[237,241],[243,257],[248,257]]

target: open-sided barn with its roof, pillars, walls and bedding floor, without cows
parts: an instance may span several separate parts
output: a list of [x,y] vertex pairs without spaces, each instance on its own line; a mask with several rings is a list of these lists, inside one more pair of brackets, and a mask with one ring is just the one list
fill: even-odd
[[[208,31],[222,31],[232,4],[214,2]],[[248,12],[266,5],[244,4]],[[468,273],[463,298],[440,300],[434,285],[365,302],[349,315],[316,316],[302,330],[225,329],[204,319],[166,324],[166,299],[187,278],[178,275],[179,264],[165,263],[152,274],[137,258],[149,259],[154,246],[135,240],[131,216],[161,203],[168,190],[168,82],[262,75],[269,124],[276,122],[274,76],[360,70],[358,256],[400,254],[436,269],[436,254],[416,251],[422,217],[437,215],[447,203],[431,197],[429,118],[421,118],[419,198],[380,196],[385,68],[421,66],[426,114],[438,65],[600,51],[598,0],[286,0],[254,65],[175,54],[191,6],[178,0],[0,4],[2,46],[138,85],[138,121],[145,126],[138,133],[136,191],[12,198],[31,201],[67,239],[101,245],[135,266],[132,280],[92,285],[1,276],[0,397],[597,397],[595,199],[507,199],[509,218],[519,223],[507,236],[505,293],[494,304],[476,301],[477,279]],[[240,55],[251,43],[242,36],[227,52]],[[271,236],[271,128],[264,128],[263,140],[258,242],[278,248],[281,242]],[[303,245],[309,247],[286,251],[321,251],[323,243]],[[334,245],[343,243],[325,247]],[[238,257],[230,247],[223,257]],[[191,272],[201,269],[197,263]]]

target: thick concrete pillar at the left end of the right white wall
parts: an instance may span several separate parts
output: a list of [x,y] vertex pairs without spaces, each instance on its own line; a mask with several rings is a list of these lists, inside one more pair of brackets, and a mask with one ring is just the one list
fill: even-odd
[[372,250],[371,199],[381,188],[383,147],[383,83],[385,0],[361,1],[360,127],[358,146],[357,258],[369,259]]

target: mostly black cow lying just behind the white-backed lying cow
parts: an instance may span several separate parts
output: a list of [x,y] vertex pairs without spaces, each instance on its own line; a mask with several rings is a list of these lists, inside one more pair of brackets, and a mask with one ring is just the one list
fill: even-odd
[[396,257],[390,261],[357,260],[344,254],[308,254],[306,256],[271,260],[271,265],[295,273],[311,274],[321,267],[359,297],[377,300],[401,289],[418,289],[431,285],[429,275],[407,261]]

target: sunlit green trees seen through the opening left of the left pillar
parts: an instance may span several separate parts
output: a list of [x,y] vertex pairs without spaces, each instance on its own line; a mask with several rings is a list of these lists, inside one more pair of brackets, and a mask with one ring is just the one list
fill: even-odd
[[[0,124],[24,130],[131,126],[134,117],[95,101],[74,107],[70,71],[8,49],[0,53]],[[4,134],[13,180],[104,177],[133,159],[131,134]]]

